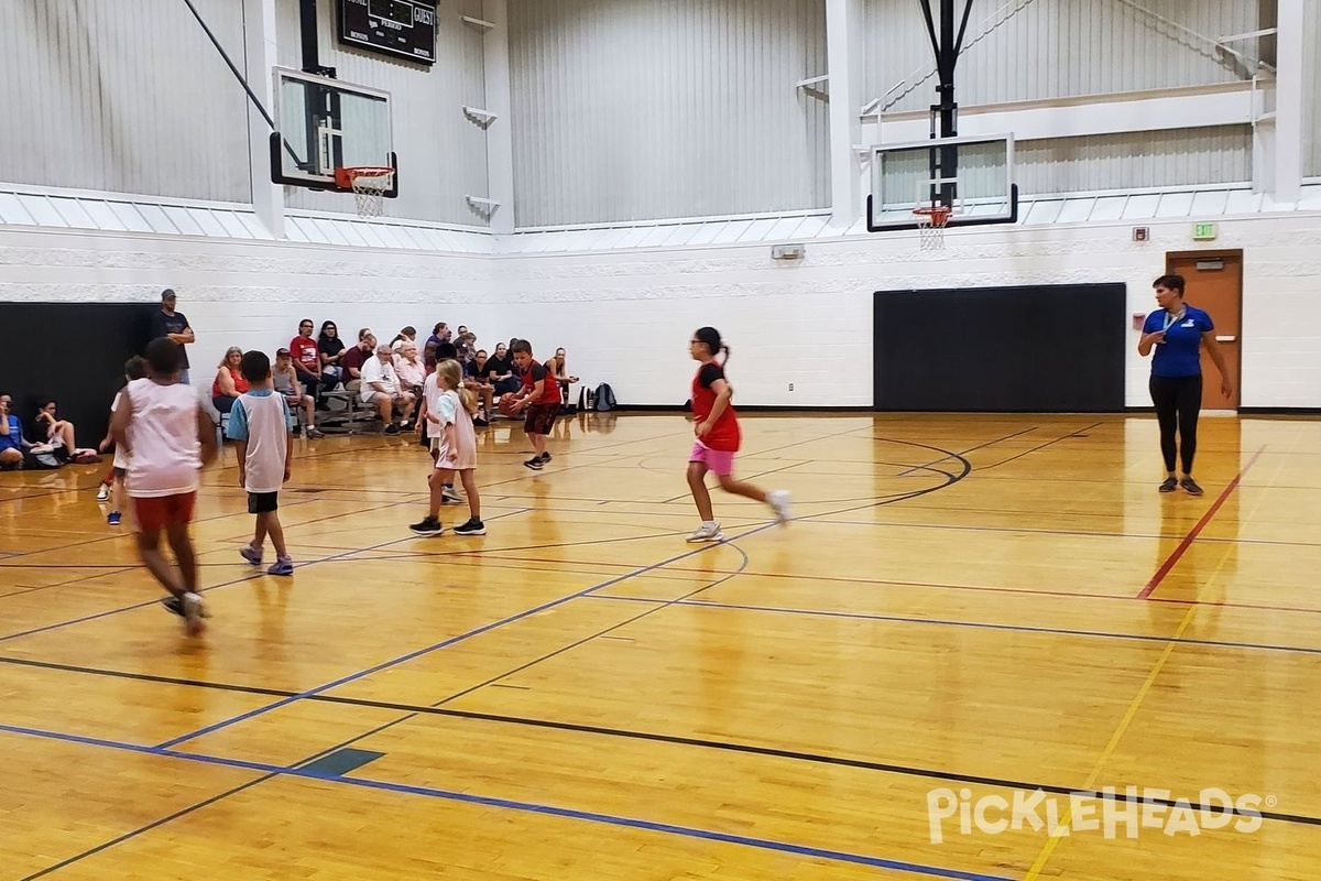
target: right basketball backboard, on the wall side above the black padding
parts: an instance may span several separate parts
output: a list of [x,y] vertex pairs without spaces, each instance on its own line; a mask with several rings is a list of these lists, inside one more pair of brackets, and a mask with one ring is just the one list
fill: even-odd
[[943,137],[872,148],[867,229],[918,229],[914,211],[950,209],[947,226],[1015,223],[1013,136]]

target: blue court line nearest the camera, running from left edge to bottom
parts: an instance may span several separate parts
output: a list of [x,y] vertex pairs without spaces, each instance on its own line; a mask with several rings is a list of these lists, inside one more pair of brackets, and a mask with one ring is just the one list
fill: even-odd
[[738,844],[742,847],[752,847],[762,851],[777,851],[779,853],[791,853],[794,856],[834,860],[836,863],[851,863],[853,865],[867,865],[877,869],[892,869],[894,872],[908,872],[910,874],[925,874],[927,877],[934,877],[934,878],[955,878],[956,881],[1011,881],[1009,878],[1005,878],[1003,876],[982,874],[978,872],[962,872],[959,869],[945,869],[934,865],[923,865],[921,863],[889,860],[885,857],[865,856],[861,853],[849,853],[847,851],[831,851],[827,848],[815,848],[802,844],[789,844],[786,841],[773,841],[770,839],[754,839],[746,835],[715,832],[712,829],[699,829],[690,826],[655,823],[653,820],[639,820],[629,816],[616,816],[613,814],[597,814],[596,811],[580,811],[568,807],[555,807],[552,804],[538,804],[535,802],[517,802],[513,799],[493,798],[487,795],[473,795],[470,793],[456,793],[450,790],[433,789],[429,786],[415,786],[410,783],[390,783],[384,781],[371,781],[358,777],[326,777],[325,774],[309,771],[305,767],[285,767],[283,765],[267,765],[264,762],[248,762],[243,759],[221,758],[217,756],[202,756],[198,753],[182,753],[176,750],[161,749],[159,746],[139,746],[136,744],[123,744],[119,741],[104,740],[99,737],[62,734],[59,732],[48,732],[37,728],[21,728],[18,725],[0,724],[0,732],[8,732],[11,734],[25,734],[29,737],[42,737],[46,740],[58,740],[70,744],[81,744],[85,746],[102,746],[107,749],[118,749],[123,752],[139,753],[145,756],[156,756],[160,758],[178,758],[190,762],[205,762],[207,765],[219,765],[223,767],[234,767],[239,770],[256,771],[262,774],[296,777],[303,779],[317,781],[321,783],[357,786],[362,789],[380,790],[386,793],[399,793],[403,795],[420,795],[424,798],[439,798],[448,802],[462,802],[466,804],[481,804],[483,807],[498,807],[513,811],[523,811],[528,814],[542,814],[546,816],[559,816],[571,820],[605,823],[608,826],[642,829],[645,832],[662,832],[666,835],[678,835],[690,839],[721,841],[724,844]]

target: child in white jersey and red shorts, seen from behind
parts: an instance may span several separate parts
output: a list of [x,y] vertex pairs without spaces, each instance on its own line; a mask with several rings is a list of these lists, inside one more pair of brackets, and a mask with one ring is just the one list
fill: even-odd
[[[111,416],[115,444],[128,458],[128,495],[137,520],[137,551],[147,569],[170,592],[165,608],[202,631],[206,606],[197,593],[197,553],[188,526],[202,465],[215,458],[215,427],[192,386],[178,382],[184,349],[160,337],[147,346],[147,378],[124,387]],[[161,532],[176,569],[161,553]]]

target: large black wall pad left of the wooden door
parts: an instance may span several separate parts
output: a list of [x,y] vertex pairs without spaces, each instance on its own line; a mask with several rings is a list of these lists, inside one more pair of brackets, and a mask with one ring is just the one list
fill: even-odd
[[1120,412],[1124,284],[877,291],[875,407]]

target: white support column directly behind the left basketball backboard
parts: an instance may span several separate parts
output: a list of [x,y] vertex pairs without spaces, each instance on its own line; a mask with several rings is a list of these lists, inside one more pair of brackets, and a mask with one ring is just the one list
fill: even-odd
[[[244,78],[252,94],[273,112],[275,85],[275,0],[243,0],[243,42],[247,57]],[[248,115],[248,172],[252,180],[252,209],[277,239],[284,238],[284,188],[271,182],[271,125],[252,102]]]

